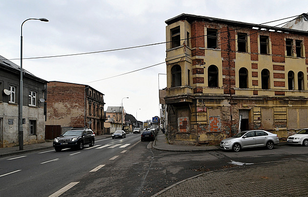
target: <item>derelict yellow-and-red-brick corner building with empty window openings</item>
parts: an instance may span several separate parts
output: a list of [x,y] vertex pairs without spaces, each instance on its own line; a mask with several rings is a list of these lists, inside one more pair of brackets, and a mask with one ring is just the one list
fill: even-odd
[[239,130],[308,127],[308,32],[181,14],[166,21],[167,136],[219,144]]

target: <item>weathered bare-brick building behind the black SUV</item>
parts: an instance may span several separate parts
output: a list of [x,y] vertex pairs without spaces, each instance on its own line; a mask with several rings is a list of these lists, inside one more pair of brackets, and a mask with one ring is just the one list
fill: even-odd
[[71,128],[88,127],[97,135],[104,134],[104,94],[91,86],[50,81],[46,102],[46,130],[61,125],[61,133]]

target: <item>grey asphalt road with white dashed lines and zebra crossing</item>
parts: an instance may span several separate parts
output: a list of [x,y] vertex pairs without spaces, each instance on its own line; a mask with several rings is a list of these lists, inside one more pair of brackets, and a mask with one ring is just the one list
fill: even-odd
[[308,157],[308,148],[299,146],[240,152],[172,152],[148,146],[140,142],[140,134],[128,134],[83,150],[0,158],[1,172],[7,173],[0,174],[0,196],[148,197],[202,172]]

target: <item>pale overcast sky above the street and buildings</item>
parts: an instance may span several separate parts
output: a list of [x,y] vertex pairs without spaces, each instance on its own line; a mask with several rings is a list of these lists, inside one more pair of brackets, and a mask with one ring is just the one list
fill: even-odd
[[[23,58],[165,42],[165,21],[182,13],[262,24],[307,13],[308,1],[1,0],[0,10],[0,55],[20,65],[20,60],[12,59],[20,58],[21,25],[28,18],[46,18],[49,22],[24,23]],[[159,115],[158,86],[160,89],[166,87],[165,51],[166,45],[160,44],[24,59],[23,69],[47,81],[90,85],[105,94],[104,110],[108,106],[121,106],[124,98],[127,113],[133,116],[137,113],[139,121],[152,120]],[[159,65],[125,74],[155,64]],[[125,75],[105,79],[118,74]]]

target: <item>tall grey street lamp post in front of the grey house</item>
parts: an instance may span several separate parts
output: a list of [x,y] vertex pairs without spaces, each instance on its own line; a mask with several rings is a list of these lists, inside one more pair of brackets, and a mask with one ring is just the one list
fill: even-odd
[[[26,21],[29,20],[40,20],[43,22],[48,22],[47,19],[45,18],[39,18],[39,19],[27,19]],[[22,25],[24,24],[24,22],[22,22]],[[19,84],[19,130],[18,130],[18,134],[19,134],[19,149],[23,150],[23,127],[22,127],[22,88],[23,88],[23,82],[22,82],[22,26],[21,26],[21,76],[20,76],[21,80],[20,80],[20,84]]]

